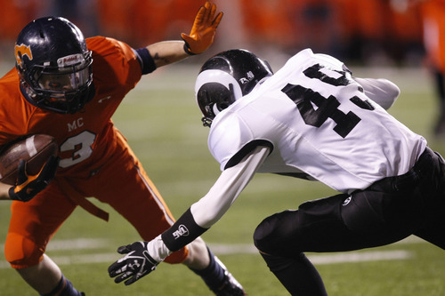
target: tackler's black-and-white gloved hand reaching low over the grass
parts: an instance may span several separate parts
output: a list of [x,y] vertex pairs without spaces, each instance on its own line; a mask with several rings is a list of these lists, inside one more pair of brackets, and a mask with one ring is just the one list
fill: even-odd
[[117,249],[119,254],[126,254],[109,266],[109,276],[117,276],[114,281],[125,285],[133,284],[142,276],[147,276],[155,270],[159,262],[151,258],[147,250],[148,242],[136,242],[123,245]]

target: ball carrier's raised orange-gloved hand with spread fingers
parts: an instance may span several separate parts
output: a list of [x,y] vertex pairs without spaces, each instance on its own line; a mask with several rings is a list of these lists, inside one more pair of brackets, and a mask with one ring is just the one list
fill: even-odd
[[185,42],[185,52],[189,54],[205,52],[206,49],[214,43],[214,33],[221,19],[223,19],[223,12],[219,12],[218,15],[214,17],[215,12],[216,4],[211,4],[208,1],[204,6],[199,8],[190,35],[181,34]]

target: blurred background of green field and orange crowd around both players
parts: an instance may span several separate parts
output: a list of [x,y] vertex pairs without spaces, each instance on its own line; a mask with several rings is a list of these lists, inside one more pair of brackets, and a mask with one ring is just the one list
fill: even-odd
[[[206,194],[219,176],[219,166],[206,148],[208,129],[201,126],[193,85],[204,60],[231,48],[255,52],[277,70],[292,54],[310,47],[314,52],[343,60],[356,76],[388,78],[401,88],[401,97],[390,113],[445,155],[445,0],[214,2],[218,11],[224,12],[214,45],[179,65],[143,76],[113,116],[176,217]],[[36,18],[63,16],[81,28],[86,37],[115,37],[138,48],[189,33],[198,7],[204,3],[205,0],[0,0],[0,76],[13,66],[13,44],[20,29]],[[259,174],[236,206],[204,238],[249,294],[286,295],[261,256],[251,251],[255,249],[252,233],[264,217],[274,212],[332,194],[332,189],[319,182]],[[92,201],[110,212],[109,223],[79,208],[48,248],[48,254],[79,289],[88,295],[208,294],[204,284],[184,267],[168,265],[160,266],[140,284],[113,284],[106,270],[118,258],[117,246],[139,240],[139,236],[107,204]],[[10,202],[0,203],[0,225],[4,226],[0,228],[0,295],[33,296],[35,292],[4,260],[9,207]],[[223,251],[224,247],[236,252]],[[407,258],[318,264],[329,294],[445,295],[441,249],[411,239],[374,251],[377,255],[402,252]]]

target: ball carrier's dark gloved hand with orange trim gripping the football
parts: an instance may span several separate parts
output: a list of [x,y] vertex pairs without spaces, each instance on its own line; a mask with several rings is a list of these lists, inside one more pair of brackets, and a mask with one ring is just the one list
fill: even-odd
[[26,172],[26,162],[20,160],[17,184],[9,188],[8,192],[11,199],[22,202],[31,200],[54,179],[57,168],[59,167],[59,161],[60,158],[58,156],[50,156],[40,172],[34,176],[28,176]]

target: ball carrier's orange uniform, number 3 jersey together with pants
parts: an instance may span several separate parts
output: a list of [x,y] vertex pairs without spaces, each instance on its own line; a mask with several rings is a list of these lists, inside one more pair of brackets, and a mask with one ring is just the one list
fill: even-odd
[[[27,203],[12,202],[4,254],[13,268],[27,268],[42,260],[46,244],[77,205],[108,219],[85,197],[109,204],[143,240],[153,239],[174,222],[157,188],[110,119],[141,79],[141,65],[133,49],[117,40],[93,37],[86,44],[93,52],[95,95],[76,114],[33,106],[20,92],[15,69],[0,79],[0,145],[20,135],[45,133],[58,141],[61,151],[60,168],[49,186]],[[180,263],[188,253],[183,248],[166,262]]]

